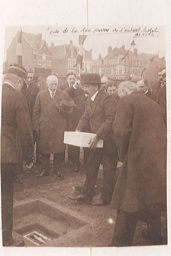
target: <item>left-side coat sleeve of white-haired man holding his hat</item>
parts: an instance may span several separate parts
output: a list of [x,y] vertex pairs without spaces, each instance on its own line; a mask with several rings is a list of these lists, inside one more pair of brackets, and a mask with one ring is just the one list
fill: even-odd
[[39,117],[40,117],[40,111],[41,111],[41,102],[40,102],[40,92],[37,93],[35,106],[32,114],[32,130],[38,130],[39,129]]

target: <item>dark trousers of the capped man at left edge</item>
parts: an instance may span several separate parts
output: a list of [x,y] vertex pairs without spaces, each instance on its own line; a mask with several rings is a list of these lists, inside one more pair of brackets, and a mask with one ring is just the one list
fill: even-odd
[[3,246],[13,243],[13,187],[17,164],[1,163],[1,195],[2,195],[2,236]]

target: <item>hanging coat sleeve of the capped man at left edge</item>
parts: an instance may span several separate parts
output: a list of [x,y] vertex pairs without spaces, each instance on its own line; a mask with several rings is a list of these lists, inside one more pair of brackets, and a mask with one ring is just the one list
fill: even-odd
[[19,100],[16,103],[16,122],[23,159],[26,162],[31,162],[32,157],[34,157],[34,140],[32,136],[31,119],[25,97],[19,97]]

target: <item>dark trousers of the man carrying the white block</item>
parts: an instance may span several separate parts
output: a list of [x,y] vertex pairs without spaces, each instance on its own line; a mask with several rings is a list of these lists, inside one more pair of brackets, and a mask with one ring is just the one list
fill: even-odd
[[[100,164],[103,162],[103,192],[102,199],[110,203],[115,188],[115,171],[117,160],[115,156],[104,156],[103,148],[90,150],[86,165],[86,180],[82,188],[82,194],[88,201],[92,201],[94,186],[97,180]],[[104,156],[104,158],[103,158]],[[102,161],[103,159],[103,161]]]

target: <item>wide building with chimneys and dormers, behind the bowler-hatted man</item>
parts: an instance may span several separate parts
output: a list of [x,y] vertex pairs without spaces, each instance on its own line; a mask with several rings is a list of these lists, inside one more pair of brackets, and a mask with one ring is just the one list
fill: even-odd
[[[97,73],[100,76],[106,75],[111,79],[139,79],[141,73],[148,63],[152,55],[145,54],[145,58],[142,58],[141,54],[137,54],[137,49],[134,52],[125,50],[125,46],[120,48],[108,47],[108,54],[102,58],[99,54],[99,59],[93,60],[92,72]],[[125,57],[125,58],[124,58]]]

